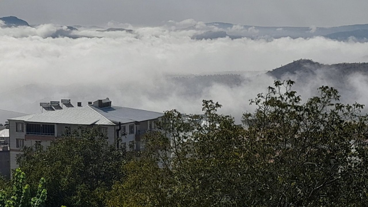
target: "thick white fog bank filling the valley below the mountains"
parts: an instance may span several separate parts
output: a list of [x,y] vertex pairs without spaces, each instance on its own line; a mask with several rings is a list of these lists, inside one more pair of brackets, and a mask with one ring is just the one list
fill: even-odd
[[[109,97],[117,106],[200,113],[202,99],[213,99],[224,106],[221,113],[239,119],[242,112],[254,109],[249,99],[272,85],[273,78],[262,75],[265,71],[301,58],[324,64],[368,62],[368,43],[323,37],[194,40],[191,36],[197,31],[178,29],[191,21],[170,21],[162,27],[128,25],[133,33],[70,32],[52,24],[0,28],[0,109],[36,113],[40,101],[71,98],[85,105]],[[50,37],[60,29],[82,37]],[[235,86],[213,83],[195,94],[190,87],[196,85],[185,88],[170,78],[223,71],[243,75],[259,71],[261,75]],[[351,91],[346,96],[364,104],[367,78],[357,74],[347,81]],[[328,83],[332,82],[321,74],[296,89],[306,99]]]

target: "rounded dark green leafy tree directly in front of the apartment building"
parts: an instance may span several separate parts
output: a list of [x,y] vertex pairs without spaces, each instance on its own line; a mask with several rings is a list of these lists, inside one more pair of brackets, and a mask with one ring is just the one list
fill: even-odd
[[125,150],[107,144],[97,127],[58,138],[49,147],[25,147],[18,158],[31,183],[46,180],[46,206],[104,206],[105,194],[124,177]]

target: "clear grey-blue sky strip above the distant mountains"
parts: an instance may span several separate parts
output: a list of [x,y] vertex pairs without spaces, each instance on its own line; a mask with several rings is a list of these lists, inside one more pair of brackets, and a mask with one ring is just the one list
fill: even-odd
[[194,19],[255,26],[365,24],[367,0],[0,0],[0,16],[29,24],[140,26]]

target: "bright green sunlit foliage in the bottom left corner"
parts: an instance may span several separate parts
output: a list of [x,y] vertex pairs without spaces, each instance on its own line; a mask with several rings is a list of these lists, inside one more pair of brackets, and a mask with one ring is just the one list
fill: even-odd
[[12,188],[0,190],[0,206],[3,207],[42,207],[45,206],[47,191],[44,188],[45,179],[41,178],[35,197],[32,197],[31,187],[26,183],[25,173],[20,168],[15,170]]

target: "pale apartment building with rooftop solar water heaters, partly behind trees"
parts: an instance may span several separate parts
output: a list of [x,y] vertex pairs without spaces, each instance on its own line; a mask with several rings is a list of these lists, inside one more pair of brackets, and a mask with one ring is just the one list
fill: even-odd
[[108,98],[89,102],[86,106],[79,102],[77,107],[65,100],[61,100],[65,109],[59,102],[40,103],[46,109],[42,113],[8,119],[11,169],[18,167],[16,157],[24,146],[40,143],[47,147],[62,133],[82,131],[87,127],[99,126],[106,133],[109,144],[125,147],[127,151],[140,150],[142,135],[152,130],[155,121],[163,116],[163,113],[113,106]]

